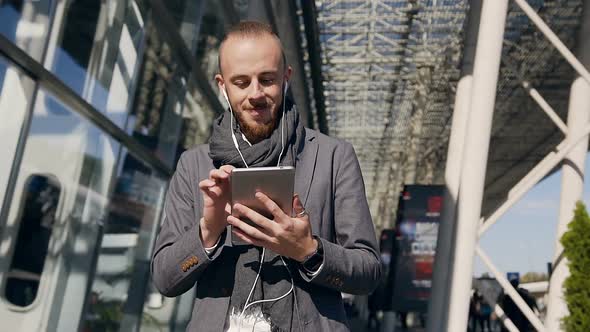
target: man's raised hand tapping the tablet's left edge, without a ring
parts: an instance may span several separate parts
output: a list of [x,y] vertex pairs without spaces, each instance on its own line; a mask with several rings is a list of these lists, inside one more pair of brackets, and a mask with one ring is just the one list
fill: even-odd
[[230,175],[233,169],[230,165],[221,166],[211,170],[208,179],[199,182],[204,201],[199,226],[205,248],[213,247],[227,226],[227,216],[231,213]]

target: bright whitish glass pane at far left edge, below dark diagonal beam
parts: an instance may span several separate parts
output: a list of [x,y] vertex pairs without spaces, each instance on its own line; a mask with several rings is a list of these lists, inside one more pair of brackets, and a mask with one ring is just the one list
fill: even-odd
[[0,56],[0,204],[33,89],[34,82]]

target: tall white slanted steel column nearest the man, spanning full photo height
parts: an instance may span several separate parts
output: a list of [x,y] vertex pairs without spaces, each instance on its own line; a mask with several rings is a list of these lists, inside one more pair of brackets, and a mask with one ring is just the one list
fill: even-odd
[[443,330],[465,331],[473,274],[473,258],[481,217],[492,117],[502,53],[508,0],[485,0],[481,11],[473,69],[471,107],[463,152],[457,206],[452,284],[448,321]]

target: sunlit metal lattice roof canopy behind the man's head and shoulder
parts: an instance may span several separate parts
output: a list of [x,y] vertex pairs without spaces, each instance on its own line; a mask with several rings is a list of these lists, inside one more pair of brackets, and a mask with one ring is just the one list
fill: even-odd
[[404,180],[444,181],[469,2],[302,3],[317,6],[330,134],[355,147],[376,228],[392,227]]

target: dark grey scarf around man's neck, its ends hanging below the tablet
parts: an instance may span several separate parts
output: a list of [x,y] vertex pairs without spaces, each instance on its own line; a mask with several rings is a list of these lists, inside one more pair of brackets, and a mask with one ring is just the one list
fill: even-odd
[[[299,121],[299,113],[294,103],[286,100],[285,114],[273,131],[270,137],[250,146],[242,138],[239,126],[234,121],[234,128],[230,125],[229,110],[220,115],[213,124],[213,133],[209,140],[209,156],[215,167],[222,165],[233,165],[245,167],[236,147],[234,146],[230,130],[236,133],[236,139],[244,159],[250,167],[276,166],[281,153],[281,126],[285,121],[285,150],[281,157],[282,166],[295,166],[297,153],[303,148],[305,140],[305,129]],[[282,110],[282,107],[281,107]],[[232,295],[230,297],[229,313],[241,312],[244,308],[246,298],[254,284],[258,266],[260,264],[261,249],[254,246],[233,247],[229,256],[235,261],[235,275]],[[291,263],[289,260],[286,262]],[[296,278],[297,268],[291,266],[291,275]],[[270,251],[266,251],[260,279],[253,292],[253,301],[261,299],[277,298],[285,294],[291,287],[291,276],[283,266],[280,257]],[[296,289],[293,290],[294,292]],[[291,331],[294,326],[301,322],[294,322],[294,301],[295,297],[290,294],[286,298],[252,306],[253,310],[261,309],[264,316],[270,321],[273,331]],[[248,312],[251,310],[249,309]],[[245,314],[248,314],[246,312]]]

